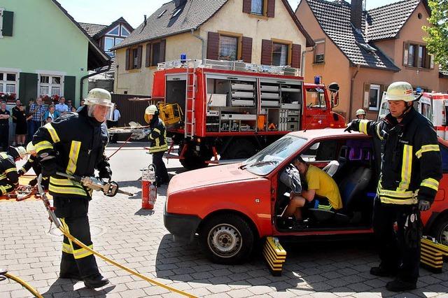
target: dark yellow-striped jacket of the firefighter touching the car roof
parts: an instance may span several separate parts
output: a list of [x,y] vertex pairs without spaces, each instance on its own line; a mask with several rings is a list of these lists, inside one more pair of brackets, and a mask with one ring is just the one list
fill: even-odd
[[377,195],[384,204],[434,201],[442,178],[442,160],[432,123],[411,108],[398,122],[355,120],[353,129],[381,141],[381,175]]

